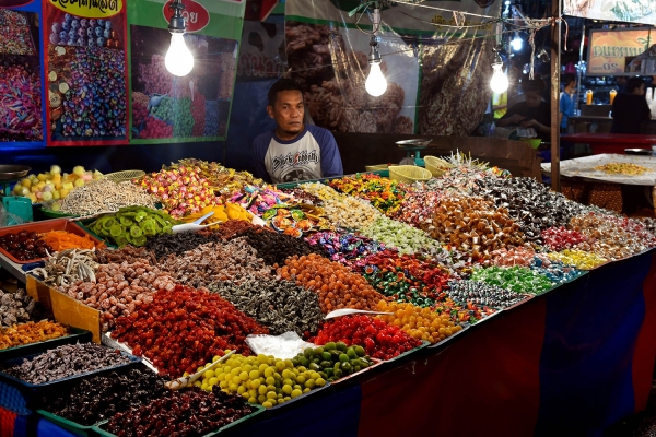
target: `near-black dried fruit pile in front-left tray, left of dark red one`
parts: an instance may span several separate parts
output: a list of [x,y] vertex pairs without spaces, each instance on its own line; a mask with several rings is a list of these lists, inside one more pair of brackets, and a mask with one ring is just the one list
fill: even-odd
[[151,371],[130,369],[82,379],[63,393],[45,397],[42,404],[52,414],[90,426],[132,406],[149,404],[166,393],[164,380]]

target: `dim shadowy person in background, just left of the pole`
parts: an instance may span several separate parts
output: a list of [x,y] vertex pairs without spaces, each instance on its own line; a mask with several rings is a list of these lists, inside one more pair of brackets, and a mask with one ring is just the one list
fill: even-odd
[[536,79],[522,84],[525,102],[513,105],[496,126],[534,128],[538,135],[549,138],[551,135],[551,106],[542,101],[544,82]]

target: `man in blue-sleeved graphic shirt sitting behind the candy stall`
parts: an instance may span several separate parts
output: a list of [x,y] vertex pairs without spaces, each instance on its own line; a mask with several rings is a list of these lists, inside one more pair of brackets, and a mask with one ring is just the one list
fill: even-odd
[[330,131],[303,122],[303,93],[291,79],[269,90],[269,117],[276,130],[253,142],[255,174],[270,184],[341,176],[341,157]]

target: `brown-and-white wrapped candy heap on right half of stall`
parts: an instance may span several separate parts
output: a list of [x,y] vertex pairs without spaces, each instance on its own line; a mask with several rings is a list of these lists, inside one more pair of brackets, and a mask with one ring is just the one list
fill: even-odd
[[481,198],[442,199],[433,215],[431,237],[458,250],[471,253],[473,260],[488,259],[502,247],[523,246],[519,225],[503,208]]

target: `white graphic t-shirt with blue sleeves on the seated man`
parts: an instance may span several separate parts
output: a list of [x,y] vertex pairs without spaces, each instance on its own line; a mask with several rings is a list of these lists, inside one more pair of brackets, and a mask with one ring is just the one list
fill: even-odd
[[271,184],[320,179],[343,174],[337,143],[330,131],[306,126],[291,141],[282,141],[274,131],[253,142],[256,176]]

